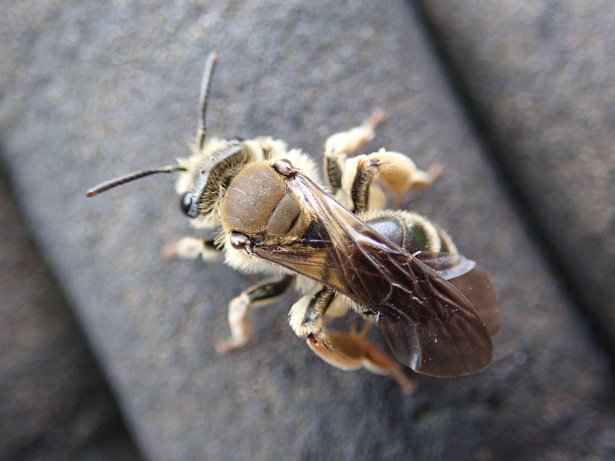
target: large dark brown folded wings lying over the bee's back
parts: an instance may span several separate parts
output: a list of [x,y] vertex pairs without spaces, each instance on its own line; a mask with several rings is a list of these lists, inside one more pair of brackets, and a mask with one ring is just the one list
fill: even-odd
[[305,242],[255,245],[256,256],[365,305],[376,315],[395,356],[417,372],[458,376],[491,362],[488,331],[457,288],[371,229],[300,171],[287,184],[308,205],[318,228]]

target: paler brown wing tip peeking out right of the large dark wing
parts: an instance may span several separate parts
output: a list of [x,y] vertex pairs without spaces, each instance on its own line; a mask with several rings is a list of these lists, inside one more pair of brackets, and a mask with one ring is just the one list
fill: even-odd
[[485,269],[458,253],[419,251],[413,256],[435,270],[463,294],[493,337],[501,328],[496,292]]

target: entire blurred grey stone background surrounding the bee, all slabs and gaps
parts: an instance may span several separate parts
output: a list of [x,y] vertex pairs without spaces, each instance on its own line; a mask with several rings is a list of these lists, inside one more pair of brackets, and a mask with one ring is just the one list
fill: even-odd
[[[259,280],[163,261],[172,178],[208,126],[319,159],[377,107],[386,146],[445,168],[405,197],[496,286],[496,361],[415,395],[331,368],[255,310]],[[0,459],[615,459],[615,5],[607,0],[0,3]]]

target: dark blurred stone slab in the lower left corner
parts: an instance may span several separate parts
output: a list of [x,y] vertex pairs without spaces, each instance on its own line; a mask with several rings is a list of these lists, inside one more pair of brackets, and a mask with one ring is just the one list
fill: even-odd
[[0,174],[0,459],[137,461],[105,380]]

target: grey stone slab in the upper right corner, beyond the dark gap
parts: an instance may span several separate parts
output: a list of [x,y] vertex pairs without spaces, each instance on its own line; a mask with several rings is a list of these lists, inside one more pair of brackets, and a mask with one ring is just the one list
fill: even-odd
[[615,350],[615,6],[420,0],[577,304]]

